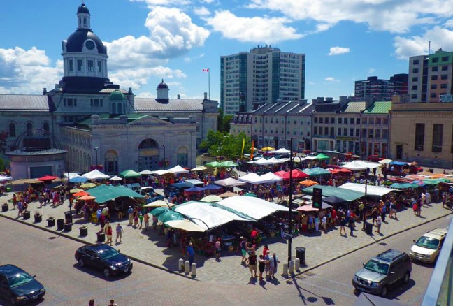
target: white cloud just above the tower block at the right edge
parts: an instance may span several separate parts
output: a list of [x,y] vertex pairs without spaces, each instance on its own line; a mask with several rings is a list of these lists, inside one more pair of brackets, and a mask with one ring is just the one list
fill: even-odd
[[411,36],[394,38],[395,54],[398,59],[408,59],[415,55],[428,54],[428,45],[431,41],[431,50],[453,49],[453,31],[441,27],[433,27],[426,31],[423,36]]

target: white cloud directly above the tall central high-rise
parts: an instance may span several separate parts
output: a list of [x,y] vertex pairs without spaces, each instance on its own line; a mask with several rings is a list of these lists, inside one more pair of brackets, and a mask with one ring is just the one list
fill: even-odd
[[229,10],[217,11],[214,17],[206,18],[206,23],[225,38],[254,43],[302,38],[303,35],[297,34],[296,29],[285,26],[289,22],[283,17],[237,17]]

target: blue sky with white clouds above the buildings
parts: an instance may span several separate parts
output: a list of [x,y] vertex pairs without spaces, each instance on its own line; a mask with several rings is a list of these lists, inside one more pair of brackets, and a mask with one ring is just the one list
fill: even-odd
[[[0,0],[0,94],[40,94],[62,77],[61,43],[80,0]],[[408,57],[453,50],[452,0],[86,0],[109,78],[135,94],[220,100],[220,56],[271,44],[306,54],[305,98],[408,73]]]

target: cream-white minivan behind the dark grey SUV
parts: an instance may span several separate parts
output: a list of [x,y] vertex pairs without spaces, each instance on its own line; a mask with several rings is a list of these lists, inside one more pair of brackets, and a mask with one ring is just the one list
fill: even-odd
[[409,252],[412,261],[435,262],[442,249],[447,231],[448,228],[436,228],[414,240],[415,245],[412,245]]

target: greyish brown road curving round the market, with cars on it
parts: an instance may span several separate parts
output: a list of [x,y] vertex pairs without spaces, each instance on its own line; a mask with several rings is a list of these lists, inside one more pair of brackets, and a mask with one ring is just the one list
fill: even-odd
[[[356,296],[351,279],[361,263],[389,247],[408,250],[412,239],[432,228],[445,227],[450,219],[429,224],[371,245],[336,261],[304,273],[294,279],[259,284],[224,285],[198,282],[179,275],[134,263],[134,270],[124,277],[106,279],[101,271],[78,268],[74,251],[79,242],[24,224],[0,220],[0,264],[13,263],[27,270],[47,288],[43,300],[32,305],[108,305],[110,298],[118,305],[351,305]],[[340,237],[338,237],[340,239]],[[143,243],[143,242],[138,242]],[[383,245],[386,244],[386,245]],[[322,254],[319,254],[322,256]],[[390,297],[418,305],[429,282],[432,267],[413,264],[412,280]],[[246,270],[245,273],[248,273]],[[0,305],[9,305],[0,299]]]

